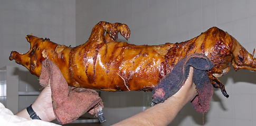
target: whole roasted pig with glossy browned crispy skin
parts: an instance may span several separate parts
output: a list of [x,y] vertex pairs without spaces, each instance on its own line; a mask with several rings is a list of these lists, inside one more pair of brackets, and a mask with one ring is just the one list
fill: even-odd
[[[105,35],[105,31],[108,34]],[[200,53],[213,62],[214,67],[208,71],[209,78],[226,97],[224,86],[217,78],[226,74],[231,65],[235,70],[256,71],[256,59],[236,39],[217,27],[182,43],[157,46],[117,42],[118,32],[129,38],[127,25],[100,22],[93,27],[89,40],[74,48],[27,35],[30,51],[23,55],[12,51],[10,60],[15,59],[32,74],[40,76],[42,61],[51,59],[70,86],[107,91],[150,91],[179,60]]]

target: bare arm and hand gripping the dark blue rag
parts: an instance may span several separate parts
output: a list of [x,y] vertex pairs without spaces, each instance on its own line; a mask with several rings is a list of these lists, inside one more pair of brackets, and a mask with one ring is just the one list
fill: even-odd
[[185,84],[179,89],[175,95],[158,103],[147,110],[136,114],[126,120],[118,122],[114,125],[167,125],[173,121],[178,112],[196,96],[195,85],[192,81],[193,68],[189,72],[189,76]]

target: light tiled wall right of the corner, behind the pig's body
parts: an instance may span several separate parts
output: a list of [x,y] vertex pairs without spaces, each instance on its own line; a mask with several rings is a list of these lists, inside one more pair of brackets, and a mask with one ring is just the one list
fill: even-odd
[[[95,24],[105,20],[111,23],[126,23],[131,30],[128,43],[137,45],[181,42],[217,26],[234,36],[252,53],[256,47],[255,6],[254,0],[77,0],[77,45],[83,44],[89,38]],[[204,115],[204,125],[256,125],[255,76],[255,72],[232,69],[221,77],[230,98],[222,96],[219,89],[214,90],[211,110]],[[115,123],[135,114],[136,112],[131,111],[131,106],[135,106],[134,109],[138,112],[142,109],[138,107],[143,106],[139,103],[141,99],[131,93],[103,94],[103,100],[115,102],[112,104],[108,100],[104,101],[106,117],[109,120],[103,125]],[[143,92],[136,92],[136,96],[143,97]],[[195,112],[191,104],[187,104],[172,125],[202,123],[202,114]]]

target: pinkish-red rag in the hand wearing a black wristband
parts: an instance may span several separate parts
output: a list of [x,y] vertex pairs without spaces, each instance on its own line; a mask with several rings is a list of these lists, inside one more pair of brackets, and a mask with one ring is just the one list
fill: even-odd
[[100,111],[103,108],[103,103],[98,92],[92,89],[68,86],[60,69],[50,59],[45,59],[42,62],[39,79],[43,87],[48,85],[50,79],[53,111],[60,124],[70,123],[86,112],[94,114],[96,117],[99,113],[103,116]]

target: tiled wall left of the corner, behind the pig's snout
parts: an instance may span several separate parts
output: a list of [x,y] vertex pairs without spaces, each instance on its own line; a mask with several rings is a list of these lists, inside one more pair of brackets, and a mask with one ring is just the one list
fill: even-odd
[[[20,68],[20,91],[38,91],[38,78],[25,67],[10,61],[12,50],[26,53],[30,49],[25,36],[50,38],[61,45],[75,46],[75,0],[0,0],[0,67]],[[20,96],[19,110],[37,96]]]

